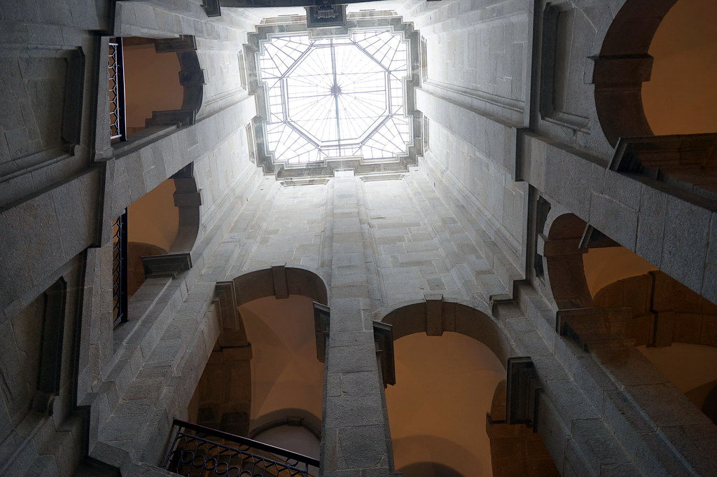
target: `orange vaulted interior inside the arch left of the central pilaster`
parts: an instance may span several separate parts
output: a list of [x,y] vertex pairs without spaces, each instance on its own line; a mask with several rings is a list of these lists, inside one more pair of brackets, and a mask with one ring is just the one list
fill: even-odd
[[244,436],[290,424],[320,433],[323,363],[311,298],[257,298],[239,306],[239,316],[239,329],[225,330],[214,345],[192,420]]

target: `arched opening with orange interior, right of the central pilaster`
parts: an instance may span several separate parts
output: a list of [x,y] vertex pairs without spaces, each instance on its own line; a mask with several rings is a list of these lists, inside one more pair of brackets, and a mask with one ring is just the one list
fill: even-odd
[[[498,424],[487,418],[500,414],[500,399],[505,409],[505,387],[500,397],[495,389],[505,382],[503,363],[512,352],[495,322],[475,308],[442,300],[398,308],[383,321],[394,336],[396,384],[386,389],[386,408],[395,467],[406,477],[528,473],[532,461],[516,464],[513,455],[507,466],[502,460],[506,441],[500,438],[505,430],[523,435],[522,428],[531,442],[541,443],[540,437],[504,420],[505,429],[491,428]],[[554,475],[548,461],[541,475]]]

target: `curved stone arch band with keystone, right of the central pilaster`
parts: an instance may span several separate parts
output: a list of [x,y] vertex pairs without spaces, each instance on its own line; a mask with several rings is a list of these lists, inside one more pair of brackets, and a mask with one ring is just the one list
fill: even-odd
[[429,307],[435,305],[422,301],[396,308],[384,316],[381,322],[393,326],[394,341],[415,333],[438,336],[443,331],[454,331],[463,334],[488,346],[505,367],[514,346],[493,318],[461,303],[439,301],[437,304],[440,304],[440,308],[430,311],[437,318],[428,318]]

